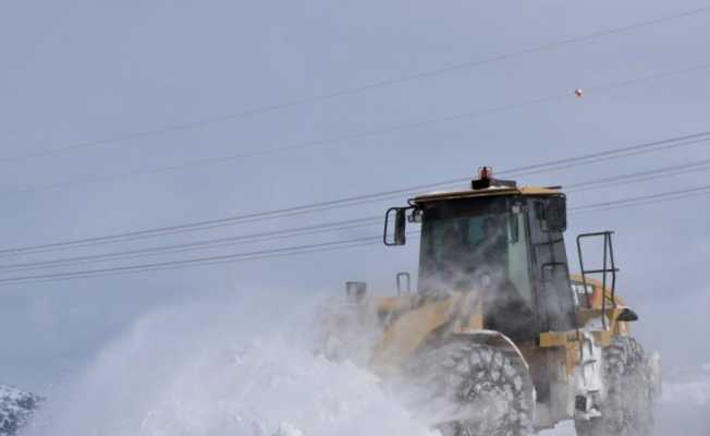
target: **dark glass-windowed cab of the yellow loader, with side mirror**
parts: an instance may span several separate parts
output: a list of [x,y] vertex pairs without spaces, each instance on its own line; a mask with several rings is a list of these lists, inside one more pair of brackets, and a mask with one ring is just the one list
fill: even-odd
[[[483,328],[516,341],[576,327],[558,190],[479,178],[467,191],[415,197],[409,210],[409,220],[421,223],[420,294],[470,292]],[[385,243],[393,242],[385,232]]]

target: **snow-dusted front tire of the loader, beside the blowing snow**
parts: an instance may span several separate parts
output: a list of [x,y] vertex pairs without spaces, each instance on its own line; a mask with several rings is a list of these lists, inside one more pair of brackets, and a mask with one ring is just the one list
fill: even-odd
[[427,348],[408,370],[426,392],[423,405],[448,410],[436,420],[442,436],[531,433],[534,388],[514,352],[461,340]]

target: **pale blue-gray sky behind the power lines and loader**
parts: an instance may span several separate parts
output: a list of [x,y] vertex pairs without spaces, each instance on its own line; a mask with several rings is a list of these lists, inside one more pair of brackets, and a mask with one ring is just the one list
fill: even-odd
[[[483,7],[470,1],[5,2],[0,7],[0,158],[356,87],[705,5],[638,0],[623,5],[543,0]],[[705,131],[710,129],[707,70],[590,92],[583,99],[572,93],[709,62],[708,20],[710,12],[201,129],[0,162],[5,211],[0,245],[289,207],[463,177],[481,165],[502,170]],[[566,100],[304,150],[65,189],[11,192],[565,93]],[[708,157],[707,145],[685,147],[518,181],[564,185]],[[707,184],[706,180],[702,172],[670,177],[571,194],[570,203],[691,187]],[[710,361],[710,346],[684,347],[674,328],[677,322],[682,332],[707,330],[710,299],[702,275],[709,254],[707,202],[708,197],[698,197],[579,215],[572,218],[567,234],[572,242],[572,235],[582,231],[617,231],[619,288],[639,307],[645,343],[661,350],[671,365]],[[369,216],[397,203],[150,244]],[[379,232],[375,226],[311,241]],[[61,254],[70,253],[90,252]],[[374,288],[387,289],[396,271],[416,268],[414,245],[336,253],[1,288],[0,380],[42,390],[85,365],[97,347],[142,312],[168,302],[235,288],[341,292],[346,279],[365,279]]]

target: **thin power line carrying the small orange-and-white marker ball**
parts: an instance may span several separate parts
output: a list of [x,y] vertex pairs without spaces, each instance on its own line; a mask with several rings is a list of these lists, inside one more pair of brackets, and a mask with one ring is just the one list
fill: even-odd
[[[619,82],[613,82],[613,83],[608,83],[608,84],[602,84],[602,85],[597,85],[597,86],[589,86],[589,87],[586,87],[586,89],[587,89],[586,92],[588,94],[603,93],[603,92],[609,92],[611,89],[622,88],[622,87],[626,87],[626,86],[633,86],[633,85],[636,85],[636,84],[639,84],[639,83],[666,78],[666,77],[671,77],[671,76],[675,76],[675,75],[680,75],[680,74],[687,74],[687,73],[697,72],[697,71],[703,71],[703,70],[707,70],[709,68],[710,68],[710,62],[707,62],[707,63],[701,63],[701,64],[697,64],[697,65],[687,66],[687,68],[684,68],[684,69],[671,70],[671,71],[665,71],[665,72],[660,72],[660,73],[653,73],[653,74],[637,76],[637,77],[633,77],[633,78],[628,78],[628,80],[624,80],[624,81],[619,81]],[[440,124],[440,123],[445,123],[445,122],[453,122],[453,121],[464,120],[464,119],[475,119],[475,118],[487,116],[487,114],[500,113],[500,112],[505,112],[505,111],[515,110],[515,109],[522,109],[522,108],[527,108],[527,107],[532,107],[532,106],[538,106],[538,105],[543,105],[543,104],[550,104],[550,102],[554,102],[554,101],[565,100],[565,99],[568,99],[568,98],[572,98],[570,93],[560,93],[560,94],[554,94],[554,95],[549,95],[549,96],[546,96],[546,97],[534,98],[534,99],[529,99],[529,100],[525,100],[525,101],[504,104],[504,105],[493,106],[493,107],[489,107],[489,108],[485,108],[485,109],[472,110],[472,111],[466,111],[466,112],[458,112],[458,113],[453,113],[453,114],[449,114],[449,116],[444,116],[444,117],[429,118],[429,119],[408,122],[408,123],[392,124],[392,125],[389,125],[389,126],[372,129],[372,130],[367,130],[367,131],[357,131],[357,132],[352,132],[352,133],[347,133],[347,134],[343,134],[343,135],[339,135],[339,136],[333,136],[333,137],[328,137],[328,138],[322,138],[322,140],[304,141],[304,142],[298,142],[298,143],[289,144],[289,145],[285,145],[285,146],[273,147],[273,148],[268,148],[268,149],[242,152],[242,153],[232,154],[232,155],[229,155],[229,156],[219,156],[219,157],[205,158],[205,159],[198,159],[198,160],[189,160],[189,161],[186,161],[186,162],[183,162],[183,164],[176,164],[176,165],[170,165],[170,166],[157,166],[157,167],[139,168],[139,169],[136,169],[136,170],[133,170],[133,171],[122,172],[122,173],[117,173],[117,174],[96,175],[96,177],[70,180],[70,181],[59,182],[59,183],[11,189],[11,190],[5,190],[5,191],[0,191],[0,195],[11,195],[11,194],[33,193],[33,192],[68,189],[68,187],[81,186],[81,185],[86,185],[86,184],[91,184],[91,183],[101,183],[101,182],[124,180],[124,179],[130,179],[130,178],[138,177],[138,175],[158,174],[158,173],[164,173],[164,172],[179,171],[179,170],[183,170],[183,169],[187,169],[187,168],[206,167],[206,166],[212,166],[212,165],[218,165],[218,164],[224,164],[224,162],[229,162],[229,161],[234,161],[234,160],[240,160],[240,159],[247,159],[247,158],[253,158],[253,157],[270,156],[270,155],[274,155],[274,154],[283,154],[283,153],[290,153],[290,152],[295,152],[295,150],[303,150],[303,149],[308,149],[308,148],[321,147],[321,146],[326,146],[326,145],[330,145],[330,144],[342,144],[342,143],[347,143],[347,142],[351,142],[351,141],[364,140],[364,138],[369,138],[369,137],[377,137],[377,136],[381,136],[381,135],[385,135],[385,134],[391,134],[391,133],[396,133],[396,132],[424,128],[424,126],[427,126],[427,125],[434,125],[434,124]]]

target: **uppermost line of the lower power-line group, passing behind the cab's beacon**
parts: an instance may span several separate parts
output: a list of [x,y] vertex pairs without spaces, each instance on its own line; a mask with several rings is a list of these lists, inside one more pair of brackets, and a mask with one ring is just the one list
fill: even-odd
[[[689,145],[697,145],[710,142],[710,132],[699,132],[688,135],[674,136],[671,138],[635,144],[626,147],[613,148],[604,152],[591,153],[587,155],[570,157],[564,159],[556,159],[547,162],[540,162],[529,166],[511,168],[509,170],[499,171],[498,174],[504,177],[529,175],[546,171],[556,171],[561,169],[573,168],[580,165],[589,165],[603,160],[636,156],[645,153],[653,153],[659,150],[666,150],[671,148],[685,147]],[[0,250],[0,256],[11,256],[17,254],[44,253],[66,247],[91,246],[98,244],[126,242],[134,240],[142,240],[146,238],[162,237],[169,234],[176,234],[183,232],[192,232],[198,230],[213,229],[225,226],[242,225],[254,221],[262,221],[266,219],[292,217],[296,215],[311,214],[321,210],[340,208],[345,206],[367,204],[377,201],[397,198],[402,195],[415,194],[426,190],[440,189],[451,186],[453,184],[466,183],[470,180],[470,175],[457,179],[450,179],[434,183],[419,184],[397,190],[383,191],[371,194],[355,195],[326,202],[310,203],[306,205],[297,205],[280,209],[271,209],[252,214],[236,215],[219,219],[209,219],[203,221],[194,221],[182,225],[158,227],[151,229],[135,230],[128,232],[114,233],[102,237],[90,237],[74,239],[61,242],[53,242],[48,244],[25,245],[13,249]]]

